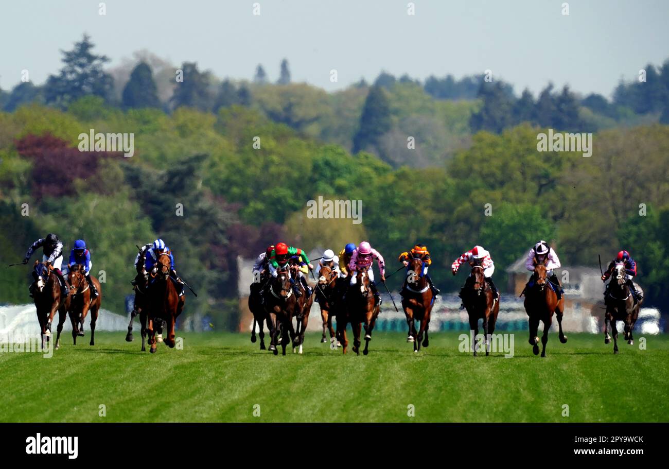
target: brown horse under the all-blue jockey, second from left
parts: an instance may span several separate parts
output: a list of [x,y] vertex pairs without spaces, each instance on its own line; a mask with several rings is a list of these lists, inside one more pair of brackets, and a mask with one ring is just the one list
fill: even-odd
[[100,306],[102,305],[102,288],[95,277],[90,278],[98,289],[98,296],[91,298],[91,290],[84,266],[78,264],[72,266],[68,272],[68,283],[70,284],[70,305],[68,314],[72,322],[72,341],[77,345],[77,336],[84,337],[84,320],[90,310],[90,345],[95,345],[95,324],[98,320]]

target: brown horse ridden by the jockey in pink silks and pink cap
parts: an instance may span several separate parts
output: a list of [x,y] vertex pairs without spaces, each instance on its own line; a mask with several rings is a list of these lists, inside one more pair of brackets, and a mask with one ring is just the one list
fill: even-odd
[[[370,267],[371,268],[371,267]],[[351,322],[351,329],[353,330],[353,351],[360,355],[360,335],[361,322],[365,322],[365,350],[363,353],[369,353],[369,341],[372,340],[372,330],[379,316],[379,306],[377,306],[374,294],[372,293],[369,284],[369,274],[367,270],[359,269],[355,274],[354,285],[350,285],[346,297],[345,308],[337,314],[337,338],[341,342],[343,353],[346,353],[346,348],[349,341],[346,337],[346,325]]]

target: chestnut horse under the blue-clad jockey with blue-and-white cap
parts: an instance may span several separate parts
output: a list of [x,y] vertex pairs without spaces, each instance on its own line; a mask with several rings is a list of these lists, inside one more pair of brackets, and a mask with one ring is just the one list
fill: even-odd
[[183,310],[185,296],[179,296],[177,288],[174,285],[175,280],[170,276],[170,257],[168,254],[158,256],[149,277],[153,279],[151,285],[147,287],[147,308],[149,326],[147,334],[149,336],[149,345],[151,353],[156,353],[158,347],[154,326],[161,324],[161,321],[167,322],[167,338],[163,339],[171,349],[175,346],[174,326],[177,317]]

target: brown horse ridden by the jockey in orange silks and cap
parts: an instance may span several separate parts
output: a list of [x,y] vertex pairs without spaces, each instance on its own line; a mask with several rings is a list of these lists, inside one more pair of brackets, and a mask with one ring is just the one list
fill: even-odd
[[[409,335],[413,339],[413,351],[420,351],[421,342],[423,347],[429,345],[427,329],[429,318],[434,306],[434,296],[429,288],[429,283],[423,275],[425,263],[420,259],[413,259],[407,266],[407,284],[402,296],[402,308],[409,324]],[[416,332],[415,321],[420,322],[419,331]],[[425,334],[425,340],[423,340]]]

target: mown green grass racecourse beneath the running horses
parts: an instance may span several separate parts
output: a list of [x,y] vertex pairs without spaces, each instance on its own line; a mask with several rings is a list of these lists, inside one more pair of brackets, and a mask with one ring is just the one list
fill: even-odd
[[601,335],[562,345],[551,333],[542,359],[522,332],[505,359],[460,353],[456,333],[420,353],[401,333],[376,333],[367,357],[320,334],[286,357],[247,334],[180,333],[182,350],[155,355],[138,333],[98,333],[94,347],[88,334],[76,346],[65,335],[50,359],[0,353],[0,421],[669,421],[666,336],[640,350],[642,335],[633,346],[620,335],[613,355]]

